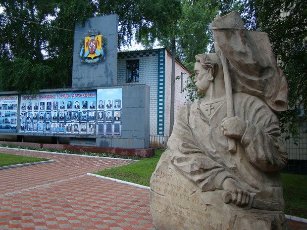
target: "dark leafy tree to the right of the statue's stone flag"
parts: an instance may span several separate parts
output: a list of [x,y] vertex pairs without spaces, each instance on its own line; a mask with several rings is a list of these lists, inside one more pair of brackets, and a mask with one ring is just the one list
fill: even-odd
[[[307,10],[303,0],[265,0],[244,2],[248,21],[254,19],[254,28],[268,34],[279,65],[289,84],[289,110],[279,113],[282,131],[294,138],[300,120],[297,115],[307,114]],[[287,137],[289,138],[289,136]]]

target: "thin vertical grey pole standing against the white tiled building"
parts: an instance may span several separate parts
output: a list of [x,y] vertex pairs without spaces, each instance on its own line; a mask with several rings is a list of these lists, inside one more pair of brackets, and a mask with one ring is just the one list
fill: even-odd
[[169,119],[169,136],[173,132],[174,111],[175,111],[175,57],[176,57],[175,39],[172,40],[172,73],[171,73],[171,90],[170,90],[170,119]]

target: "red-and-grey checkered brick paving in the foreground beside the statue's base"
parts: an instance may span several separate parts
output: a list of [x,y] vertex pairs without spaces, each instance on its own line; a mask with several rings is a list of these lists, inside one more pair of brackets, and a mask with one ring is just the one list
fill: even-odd
[[0,229],[155,230],[149,191],[79,176],[0,197]]

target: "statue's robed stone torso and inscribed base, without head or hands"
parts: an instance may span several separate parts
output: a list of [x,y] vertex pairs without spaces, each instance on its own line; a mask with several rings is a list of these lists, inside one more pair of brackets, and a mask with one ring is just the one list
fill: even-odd
[[[280,170],[287,153],[275,114],[260,99],[233,95],[235,115],[247,123],[228,151],[221,131],[226,101],[203,98],[180,109],[168,149],[151,179],[151,209],[157,230],[286,230]],[[248,207],[225,203],[231,178],[253,194]]]

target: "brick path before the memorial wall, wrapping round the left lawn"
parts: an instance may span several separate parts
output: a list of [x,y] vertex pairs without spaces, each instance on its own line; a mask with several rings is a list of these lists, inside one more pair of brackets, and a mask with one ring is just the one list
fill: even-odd
[[0,170],[0,195],[129,163],[123,160],[59,155],[4,148],[0,148],[0,152],[55,160],[52,163]]

